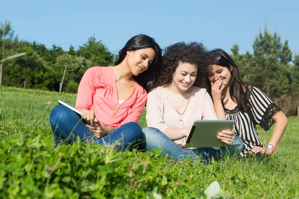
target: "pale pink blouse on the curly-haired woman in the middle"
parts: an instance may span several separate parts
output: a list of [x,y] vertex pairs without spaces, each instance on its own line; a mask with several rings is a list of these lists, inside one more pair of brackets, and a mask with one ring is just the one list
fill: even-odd
[[[148,94],[147,123],[161,132],[168,127],[191,128],[196,119],[217,119],[213,102],[206,89],[193,87],[184,112],[179,113],[166,96],[167,89],[157,87]],[[187,137],[174,140],[179,146],[186,144]]]

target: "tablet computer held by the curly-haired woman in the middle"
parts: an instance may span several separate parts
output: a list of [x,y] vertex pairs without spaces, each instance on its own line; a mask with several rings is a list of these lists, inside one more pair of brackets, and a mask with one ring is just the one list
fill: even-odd
[[223,147],[217,138],[222,130],[233,129],[235,120],[195,120],[186,141],[186,147]]

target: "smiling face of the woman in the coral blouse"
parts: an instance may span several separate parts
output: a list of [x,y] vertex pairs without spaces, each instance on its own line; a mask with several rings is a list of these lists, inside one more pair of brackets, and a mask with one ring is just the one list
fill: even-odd
[[155,52],[152,48],[127,51],[127,63],[133,75],[146,71],[153,62]]

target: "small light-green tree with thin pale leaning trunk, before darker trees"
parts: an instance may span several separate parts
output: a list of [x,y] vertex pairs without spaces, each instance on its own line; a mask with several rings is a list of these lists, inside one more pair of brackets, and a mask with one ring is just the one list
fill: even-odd
[[[84,57],[75,57],[72,55],[69,55],[67,53],[57,57],[57,64],[64,66],[64,72],[63,72],[63,76],[62,76],[62,80],[59,86],[59,93],[61,93],[62,91],[62,86],[63,86],[63,81],[64,81],[64,77],[65,77],[65,73],[67,71],[75,71],[75,70],[80,70],[80,69],[84,69],[86,70],[86,66],[88,65],[89,61],[86,60]],[[69,69],[69,70],[67,70]]]

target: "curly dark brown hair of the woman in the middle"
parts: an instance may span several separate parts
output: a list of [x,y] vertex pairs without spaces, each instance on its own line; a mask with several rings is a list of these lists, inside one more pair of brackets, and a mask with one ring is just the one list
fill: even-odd
[[179,62],[198,66],[197,77],[193,85],[197,87],[204,85],[204,73],[212,62],[201,43],[179,42],[164,48],[163,51],[157,86],[168,87],[172,83],[173,74]]

